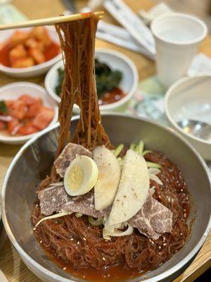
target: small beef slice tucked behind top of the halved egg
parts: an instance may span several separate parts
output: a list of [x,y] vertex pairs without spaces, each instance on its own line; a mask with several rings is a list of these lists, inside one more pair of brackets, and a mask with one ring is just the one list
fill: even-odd
[[71,161],[78,156],[85,155],[87,157],[92,157],[91,152],[84,148],[82,145],[77,145],[75,143],[68,143],[60,153],[54,165],[56,167],[57,173],[61,176],[65,176],[65,171],[70,166]]

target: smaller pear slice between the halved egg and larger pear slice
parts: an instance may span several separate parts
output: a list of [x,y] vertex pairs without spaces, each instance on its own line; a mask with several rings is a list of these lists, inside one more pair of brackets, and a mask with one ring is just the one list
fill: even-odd
[[113,203],[120,183],[120,164],[106,147],[98,146],[93,150],[93,159],[98,166],[98,180],[94,186],[94,202],[98,211]]

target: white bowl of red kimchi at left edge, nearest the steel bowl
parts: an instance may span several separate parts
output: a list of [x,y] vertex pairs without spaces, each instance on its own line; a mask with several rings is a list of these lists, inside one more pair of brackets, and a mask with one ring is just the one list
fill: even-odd
[[[30,96],[32,97],[41,97],[44,106],[48,106],[49,108],[55,111],[53,120],[51,121],[51,123],[49,123],[47,128],[51,127],[51,125],[56,123],[58,118],[58,106],[56,102],[49,96],[46,90],[44,90],[43,87],[31,82],[15,82],[0,88],[0,100],[18,99],[18,97],[23,94],[30,94]],[[37,133],[40,133],[40,131]],[[0,142],[13,145],[24,144],[25,142],[30,140],[30,138],[37,135],[37,133],[24,136],[7,136],[4,135],[4,133],[1,133],[0,130]]]

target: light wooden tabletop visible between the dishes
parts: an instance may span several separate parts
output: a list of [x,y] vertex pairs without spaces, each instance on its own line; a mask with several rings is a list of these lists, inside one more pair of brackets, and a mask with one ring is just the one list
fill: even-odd
[[[53,5],[52,5],[53,2]],[[139,1],[130,1],[125,0],[125,2],[134,10],[138,11],[140,8],[151,8],[153,4],[149,0],[139,0]],[[63,13],[65,7],[63,6],[62,1],[59,0],[36,0],[36,7],[34,6],[33,0],[13,0],[13,4],[17,6],[20,11],[23,11],[25,15],[30,19],[35,18],[46,18],[50,16],[58,16]],[[77,0],[77,8],[84,6],[86,0]],[[38,8],[39,7],[39,8]],[[110,23],[115,23],[115,20],[106,13],[104,19]],[[103,42],[102,40],[96,39],[97,48],[108,48],[116,49],[122,51],[124,54],[129,56],[132,61],[136,64],[136,67],[139,71],[139,80],[147,78],[148,76],[155,73],[154,62],[150,59],[147,59],[141,54],[137,54],[133,51],[129,51],[122,47],[117,47],[108,42]],[[211,57],[211,37],[208,36],[204,42],[200,45],[200,51],[203,51],[205,54]],[[18,79],[9,78],[6,75],[0,74],[0,86],[5,85],[10,82],[18,81]],[[36,78],[27,79],[27,81],[35,82],[40,85],[44,84],[44,76],[39,76]],[[6,170],[11,163],[16,152],[18,152],[20,146],[11,146],[0,144],[0,188],[4,180],[4,175]],[[198,253],[197,257],[193,260],[190,266],[181,274],[174,282],[181,281],[194,281],[200,274],[202,274],[206,269],[211,266],[211,233],[208,236],[205,244]],[[32,272],[27,269],[25,264],[18,256],[18,253],[15,251],[14,247],[11,245],[9,240],[6,240],[6,243],[3,246],[3,249],[0,253],[0,269],[6,275],[9,282],[40,282],[41,280],[34,276]]]

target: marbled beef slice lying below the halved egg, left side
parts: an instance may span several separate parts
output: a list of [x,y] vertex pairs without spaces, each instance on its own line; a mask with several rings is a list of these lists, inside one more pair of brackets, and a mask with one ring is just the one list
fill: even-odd
[[63,186],[53,186],[46,188],[38,193],[41,214],[49,216],[53,212],[80,212],[95,218],[105,216],[109,209],[98,212],[94,207],[94,191],[78,196],[71,197]]

